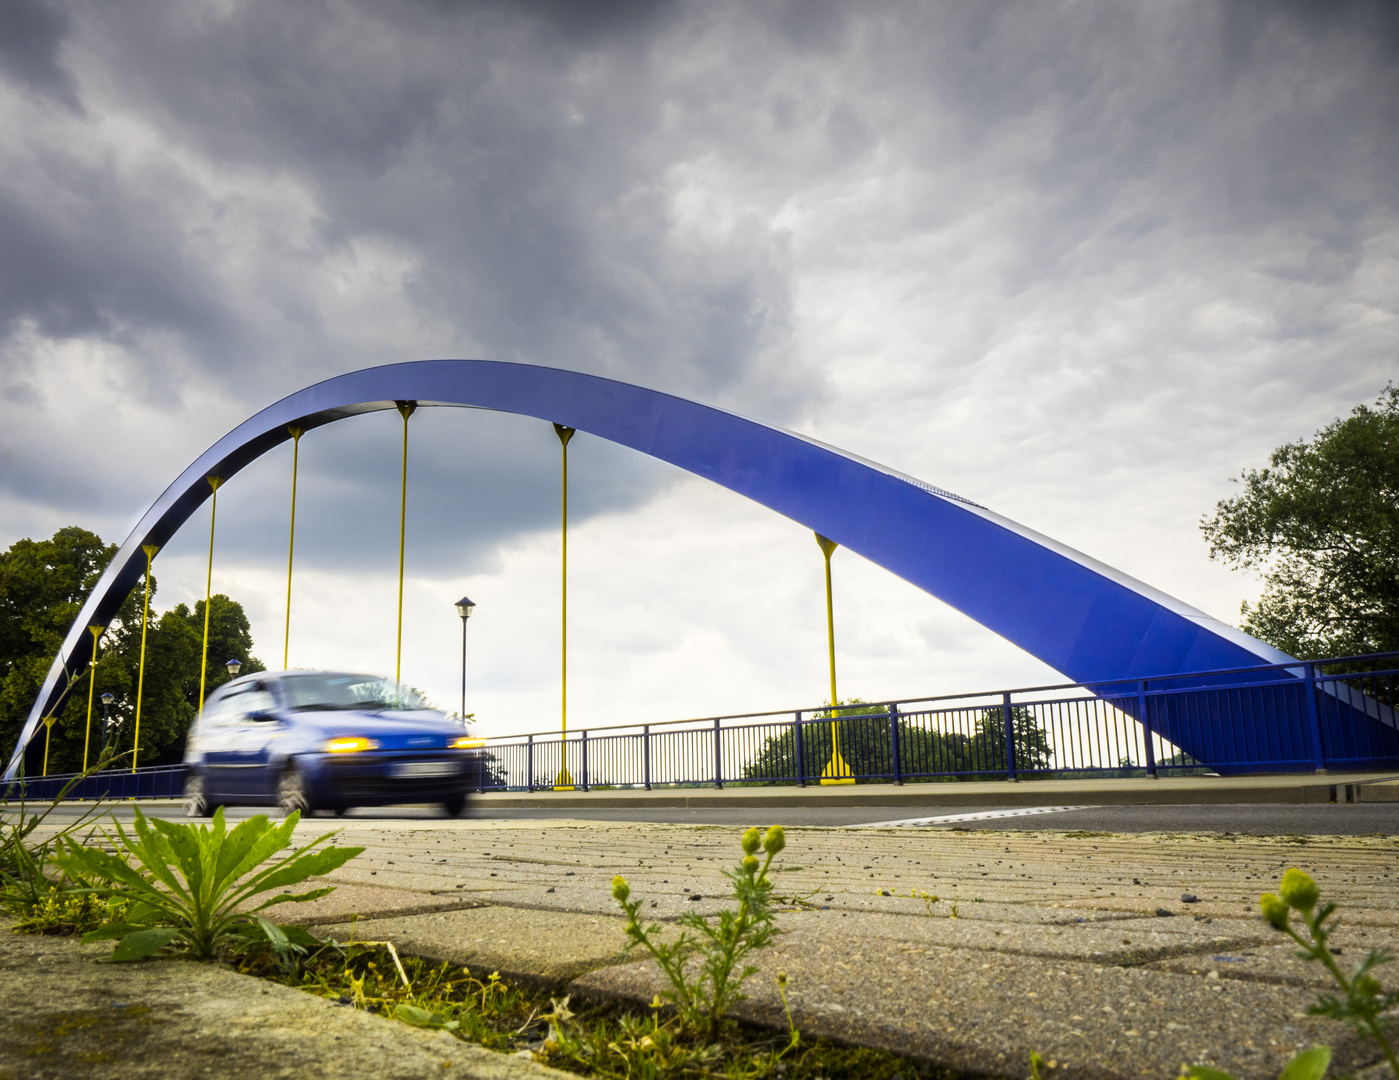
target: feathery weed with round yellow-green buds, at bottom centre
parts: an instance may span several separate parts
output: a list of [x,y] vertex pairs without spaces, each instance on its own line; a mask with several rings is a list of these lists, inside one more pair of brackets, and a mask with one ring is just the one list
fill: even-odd
[[[772,825],[765,835],[750,828],[743,834],[741,846],[743,862],[734,870],[725,870],[725,877],[733,883],[739,909],[720,911],[718,926],[698,912],[686,912],[680,916],[680,925],[698,936],[681,932],[672,944],[658,940],[659,925],[641,923],[638,914],[642,902],[630,900],[627,879],[620,874],[613,879],[613,898],[627,914],[627,948],[641,946],[651,953],[670,981],[670,989],[662,997],[676,1006],[686,1027],[704,1034],[711,1042],[719,1035],[725,1013],[744,1000],[744,981],[757,972],[757,968],[743,961],[754,950],[771,944],[778,933],[768,867],[774,856],[786,846],[786,837],[781,825]],[[760,846],[767,852],[762,862],[757,856]],[[698,975],[694,978],[686,971],[691,960],[698,961]]]

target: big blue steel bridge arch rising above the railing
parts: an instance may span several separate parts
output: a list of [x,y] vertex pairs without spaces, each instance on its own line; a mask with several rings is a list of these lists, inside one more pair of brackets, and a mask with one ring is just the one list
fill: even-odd
[[291,424],[309,431],[402,400],[537,417],[670,462],[859,553],[1076,683],[1293,660],[1009,518],[816,439],[596,375],[428,360],[365,368],[298,390],[239,424],[180,473],[122,544],[74,621],[4,778],[14,776],[55,708],[64,673],[87,665],[92,635],[85,628],[111,624],[140,582],[141,546],[166,544],[210,497],[206,477],[228,480],[290,439]]

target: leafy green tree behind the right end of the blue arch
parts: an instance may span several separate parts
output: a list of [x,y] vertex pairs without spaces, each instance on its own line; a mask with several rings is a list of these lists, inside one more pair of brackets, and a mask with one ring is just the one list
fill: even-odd
[[1399,388],[1234,483],[1200,530],[1263,579],[1244,630],[1301,659],[1399,651]]

